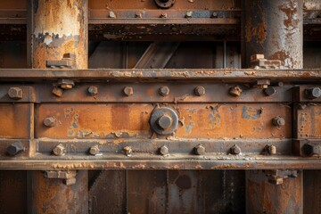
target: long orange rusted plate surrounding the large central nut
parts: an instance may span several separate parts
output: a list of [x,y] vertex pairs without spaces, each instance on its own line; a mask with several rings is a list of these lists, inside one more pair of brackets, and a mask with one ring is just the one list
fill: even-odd
[[[177,138],[289,138],[292,112],[285,104],[177,104]],[[151,138],[152,104],[41,104],[36,108],[36,136],[48,138]],[[277,111],[276,111],[277,110]],[[285,119],[275,127],[272,119]],[[44,119],[57,119],[55,127]]]

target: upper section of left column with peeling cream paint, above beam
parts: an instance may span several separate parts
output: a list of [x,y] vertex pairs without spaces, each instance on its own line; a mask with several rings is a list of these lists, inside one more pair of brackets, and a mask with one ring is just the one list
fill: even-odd
[[29,2],[30,67],[45,69],[47,60],[76,55],[77,68],[87,68],[87,1]]

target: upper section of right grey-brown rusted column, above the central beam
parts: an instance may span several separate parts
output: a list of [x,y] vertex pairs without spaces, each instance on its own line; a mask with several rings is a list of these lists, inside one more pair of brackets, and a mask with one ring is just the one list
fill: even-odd
[[303,1],[243,0],[242,64],[252,54],[280,60],[285,68],[303,66]]

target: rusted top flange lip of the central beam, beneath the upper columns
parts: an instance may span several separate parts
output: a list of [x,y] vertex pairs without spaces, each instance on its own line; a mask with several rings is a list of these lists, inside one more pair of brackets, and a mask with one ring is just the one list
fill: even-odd
[[137,80],[149,79],[154,81],[180,79],[180,80],[217,80],[229,82],[249,82],[260,78],[282,82],[314,82],[321,80],[321,70],[254,70],[254,69],[165,69],[165,70],[0,70],[0,81],[26,81],[58,80],[71,78],[74,80]]

